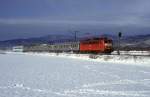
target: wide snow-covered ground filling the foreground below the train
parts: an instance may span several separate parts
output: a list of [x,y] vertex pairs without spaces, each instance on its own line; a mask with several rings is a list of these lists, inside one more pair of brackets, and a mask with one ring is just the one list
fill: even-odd
[[149,97],[149,63],[149,56],[0,54],[0,97]]

